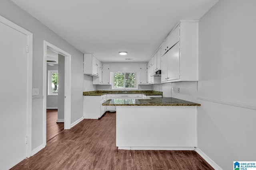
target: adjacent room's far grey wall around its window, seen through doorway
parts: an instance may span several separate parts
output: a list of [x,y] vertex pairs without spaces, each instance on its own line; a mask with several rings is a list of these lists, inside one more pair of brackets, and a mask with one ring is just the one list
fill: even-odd
[[[48,70],[57,70],[58,71],[58,64],[54,66],[47,65],[47,84],[46,84],[46,92],[48,92]],[[46,108],[58,108],[58,96],[48,96],[46,95]]]

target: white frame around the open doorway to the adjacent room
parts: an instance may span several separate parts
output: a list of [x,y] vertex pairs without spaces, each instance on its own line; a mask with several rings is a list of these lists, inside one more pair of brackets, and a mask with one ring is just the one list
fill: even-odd
[[44,40],[44,54],[43,54],[43,134],[44,134],[44,145],[46,145],[46,82],[47,82],[47,48],[52,51],[63,55],[65,57],[65,75],[64,75],[64,129],[71,128],[71,55],[66,51],[56,47],[55,45]]

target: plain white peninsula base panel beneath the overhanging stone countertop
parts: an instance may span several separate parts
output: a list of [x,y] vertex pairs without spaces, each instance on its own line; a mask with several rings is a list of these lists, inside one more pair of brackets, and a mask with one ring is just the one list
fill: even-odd
[[116,146],[126,150],[194,150],[197,106],[116,106]]

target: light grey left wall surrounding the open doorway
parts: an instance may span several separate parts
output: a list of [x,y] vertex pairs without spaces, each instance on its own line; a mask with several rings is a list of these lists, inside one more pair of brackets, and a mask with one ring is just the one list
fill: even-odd
[[83,54],[30,16],[10,0],[0,1],[0,15],[33,33],[33,88],[39,88],[39,98],[32,101],[32,152],[43,145],[43,41],[71,54],[71,123],[83,116]]

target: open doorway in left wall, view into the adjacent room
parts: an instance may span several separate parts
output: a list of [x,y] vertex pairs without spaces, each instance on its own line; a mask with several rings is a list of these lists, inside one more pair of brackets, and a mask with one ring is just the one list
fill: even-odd
[[64,130],[64,56],[47,48],[46,141]]

